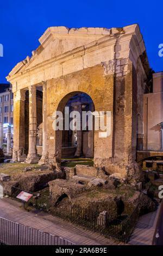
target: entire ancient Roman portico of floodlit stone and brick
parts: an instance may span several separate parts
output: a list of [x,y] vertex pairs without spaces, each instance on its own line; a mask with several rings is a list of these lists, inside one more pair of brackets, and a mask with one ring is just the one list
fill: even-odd
[[139,175],[136,143],[141,141],[143,131],[138,132],[137,127],[142,127],[142,99],[149,71],[139,26],[49,27],[39,41],[32,57],[18,63],[7,77],[14,93],[13,160],[39,161],[36,92],[41,88],[40,164],[59,167],[62,138],[61,131],[53,130],[53,112],[63,111],[73,95],[86,93],[95,111],[111,111],[111,135],[99,138],[98,131],[94,131],[94,166],[121,177]]

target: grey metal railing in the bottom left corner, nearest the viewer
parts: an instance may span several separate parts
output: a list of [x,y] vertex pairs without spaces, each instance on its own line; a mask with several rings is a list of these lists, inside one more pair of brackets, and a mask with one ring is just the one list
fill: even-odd
[[0,245],[75,245],[35,228],[0,217]]

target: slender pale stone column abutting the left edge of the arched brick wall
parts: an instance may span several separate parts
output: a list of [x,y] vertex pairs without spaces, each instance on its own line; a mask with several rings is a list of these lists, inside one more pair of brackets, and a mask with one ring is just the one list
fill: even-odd
[[47,84],[44,83],[42,86],[42,156],[39,164],[45,164],[47,161]]

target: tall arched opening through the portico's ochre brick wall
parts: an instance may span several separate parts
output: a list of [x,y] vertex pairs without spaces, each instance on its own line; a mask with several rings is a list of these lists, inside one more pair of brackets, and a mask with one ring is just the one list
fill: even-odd
[[67,94],[60,101],[57,111],[61,111],[63,117],[63,129],[56,131],[55,147],[59,151],[59,159],[80,158],[80,164],[84,162],[82,158],[93,159],[94,116],[92,112],[95,111],[95,105],[91,97],[83,92]]

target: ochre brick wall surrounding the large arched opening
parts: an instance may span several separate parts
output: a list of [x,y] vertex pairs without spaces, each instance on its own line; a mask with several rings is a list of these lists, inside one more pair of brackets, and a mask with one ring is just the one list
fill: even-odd
[[104,76],[104,70],[101,65],[47,81],[47,151],[49,163],[60,163],[61,161],[61,138],[60,133],[55,132],[52,128],[53,113],[57,110],[62,111],[71,96],[82,92],[91,97],[95,111],[111,112],[111,135],[106,138],[99,138],[99,131],[94,132],[95,167],[110,166],[113,143],[113,90],[114,76]]

